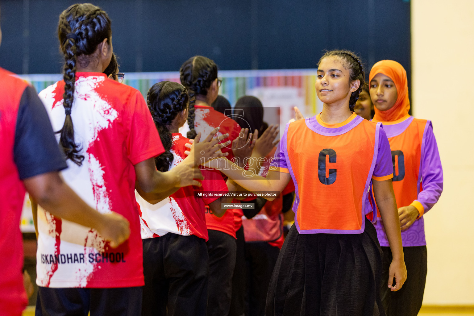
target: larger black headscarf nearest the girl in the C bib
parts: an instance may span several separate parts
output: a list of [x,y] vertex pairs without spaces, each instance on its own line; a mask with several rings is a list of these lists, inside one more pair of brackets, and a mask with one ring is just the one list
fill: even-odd
[[[243,111],[237,111],[240,109]],[[238,116],[239,112],[244,112],[244,116]],[[249,133],[253,133],[255,129],[258,129],[260,133],[264,122],[264,108],[262,102],[253,96],[246,95],[240,97],[234,107],[232,118],[237,122],[240,128],[248,128]]]

